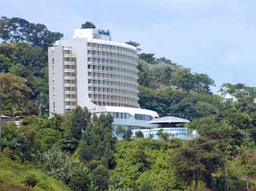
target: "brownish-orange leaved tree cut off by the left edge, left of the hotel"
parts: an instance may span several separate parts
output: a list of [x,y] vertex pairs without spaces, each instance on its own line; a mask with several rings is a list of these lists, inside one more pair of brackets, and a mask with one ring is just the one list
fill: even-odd
[[[10,73],[0,73],[0,115],[4,104],[22,102],[31,93],[31,89],[25,83],[26,80],[22,77],[13,76]],[[0,139],[1,127],[0,117]]]

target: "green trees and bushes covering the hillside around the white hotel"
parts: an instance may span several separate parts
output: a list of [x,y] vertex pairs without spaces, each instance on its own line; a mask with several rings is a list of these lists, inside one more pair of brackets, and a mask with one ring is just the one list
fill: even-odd
[[[83,28],[93,27],[85,23]],[[0,114],[22,126],[0,132],[0,189],[73,191],[235,191],[256,189],[256,88],[214,80],[152,53],[140,53],[141,108],[188,118],[194,140],[112,134],[113,117],[77,106],[48,119],[47,51],[62,37],[25,19],[0,19]],[[248,96],[239,92],[249,92]]]

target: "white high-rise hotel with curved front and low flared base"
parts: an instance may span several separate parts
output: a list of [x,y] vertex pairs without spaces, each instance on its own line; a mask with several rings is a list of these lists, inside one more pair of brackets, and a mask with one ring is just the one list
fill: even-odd
[[48,48],[50,113],[76,105],[114,116],[114,129],[151,128],[156,112],[138,104],[136,48],[111,41],[110,31],[75,29]]

